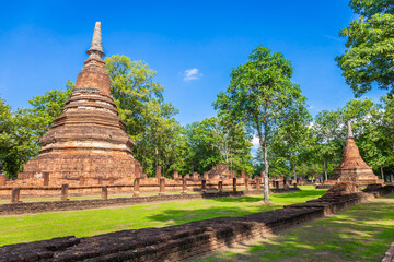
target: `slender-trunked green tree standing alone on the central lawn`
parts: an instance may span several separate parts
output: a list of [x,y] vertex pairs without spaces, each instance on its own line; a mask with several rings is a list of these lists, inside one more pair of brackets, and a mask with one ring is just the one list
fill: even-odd
[[264,201],[269,202],[268,140],[278,122],[289,117],[288,108],[304,99],[291,82],[290,61],[279,52],[258,46],[245,64],[234,68],[227,92],[218,95],[216,108],[257,133],[264,155]]

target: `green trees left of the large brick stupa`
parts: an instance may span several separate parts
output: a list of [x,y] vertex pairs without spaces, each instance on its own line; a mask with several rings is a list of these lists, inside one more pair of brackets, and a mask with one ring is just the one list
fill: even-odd
[[48,131],[54,118],[61,114],[72,88],[72,83],[68,81],[65,90],[35,96],[28,102],[32,106],[28,109],[12,111],[1,100],[0,160],[9,177],[16,177],[22,171],[22,165],[38,154],[40,136]]

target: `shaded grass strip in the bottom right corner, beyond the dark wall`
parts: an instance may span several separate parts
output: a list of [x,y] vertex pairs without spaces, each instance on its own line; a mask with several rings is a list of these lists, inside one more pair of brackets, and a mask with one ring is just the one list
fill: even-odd
[[393,206],[391,193],[255,245],[195,261],[381,261],[394,240]]

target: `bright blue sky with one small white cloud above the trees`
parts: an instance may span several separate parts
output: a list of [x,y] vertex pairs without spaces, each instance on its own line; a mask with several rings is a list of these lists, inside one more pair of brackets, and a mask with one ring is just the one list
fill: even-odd
[[[182,124],[215,116],[231,69],[264,45],[292,62],[312,115],[354,97],[334,57],[356,16],[347,0],[7,1],[0,11],[0,96],[13,108],[67,80],[88,58],[95,21],[106,56],[144,60]],[[367,96],[378,100],[385,92]]]

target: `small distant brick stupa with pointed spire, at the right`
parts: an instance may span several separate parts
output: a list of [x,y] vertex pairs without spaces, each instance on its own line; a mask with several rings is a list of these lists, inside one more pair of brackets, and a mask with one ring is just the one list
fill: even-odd
[[343,162],[334,170],[334,176],[331,180],[355,182],[358,186],[381,183],[381,180],[373,174],[372,168],[360,156],[360,152],[355,143],[350,121],[347,122],[347,129]]

